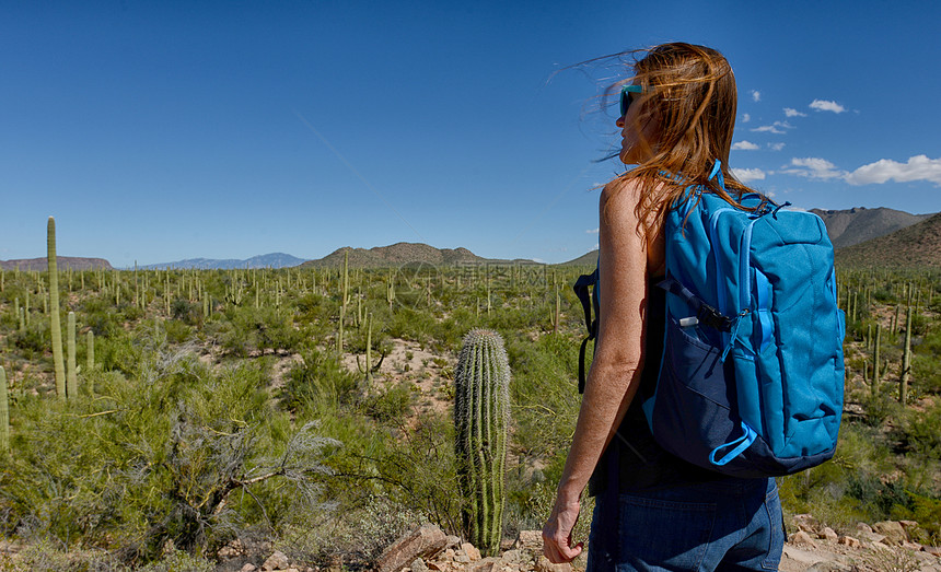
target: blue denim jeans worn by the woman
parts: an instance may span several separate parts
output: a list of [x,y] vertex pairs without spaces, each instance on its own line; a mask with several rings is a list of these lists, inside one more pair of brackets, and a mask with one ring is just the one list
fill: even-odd
[[609,499],[596,499],[589,572],[778,569],[785,532],[775,479],[621,493],[616,506]]

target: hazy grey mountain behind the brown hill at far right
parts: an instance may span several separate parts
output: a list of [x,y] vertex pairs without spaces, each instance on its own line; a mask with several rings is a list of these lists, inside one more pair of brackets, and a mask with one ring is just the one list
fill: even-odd
[[837,249],[885,236],[931,218],[931,214],[909,214],[882,207],[878,209],[859,207],[848,210],[811,209],[811,212],[823,219],[827,235],[834,248]]

